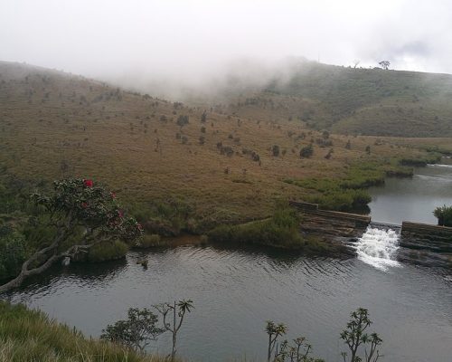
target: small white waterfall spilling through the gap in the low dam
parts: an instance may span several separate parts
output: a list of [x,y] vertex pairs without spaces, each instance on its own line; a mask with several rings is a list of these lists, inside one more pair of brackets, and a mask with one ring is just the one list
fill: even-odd
[[386,271],[390,266],[400,266],[395,259],[399,249],[399,237],[399,233],[391,228],[384,229],[369,225],[353,247],[358,254],[358,259]]

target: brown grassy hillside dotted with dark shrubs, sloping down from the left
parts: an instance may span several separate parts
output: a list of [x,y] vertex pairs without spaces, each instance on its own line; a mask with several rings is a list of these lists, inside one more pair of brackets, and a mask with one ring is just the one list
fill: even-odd
[[[301,108],[318,102],[298,100],[290,101]],[[322,192],[287,179],[349,178],[356,165],[384,173],[398,167],[397,159],[425,155],[400,146],[400,139],[328,135],[295,119],[273,118],[271,108],[247,107],[245,117],[229,108],[187,107],[80,76],[0,62],[0,166],[27,180],[94,178],[142,219],[182,214],[185,226],[197,231],[265,217],[277,199]],[[309,144],[313,156],[300,157]]]

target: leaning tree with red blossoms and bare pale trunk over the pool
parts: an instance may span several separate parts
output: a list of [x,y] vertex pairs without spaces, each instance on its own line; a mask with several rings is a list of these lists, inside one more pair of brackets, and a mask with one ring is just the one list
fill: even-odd
[[52,194],[33,194],[32,200],[40,214],[35,223],[47,227],[50,236],[38,245],[12,281],[0,285],[0,292],[18,287],[54,262],[74,258],[94,245],[117,240],[135,243],[143,234],[141,224],[124,217],[116,195],[94,186],[92,180],[55,181]]

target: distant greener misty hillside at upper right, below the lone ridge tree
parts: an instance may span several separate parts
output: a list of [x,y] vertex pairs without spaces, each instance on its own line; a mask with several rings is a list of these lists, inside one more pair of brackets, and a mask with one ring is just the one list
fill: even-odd
[[240,117],[292,119],[334,133],[398,137],[452,136],[452,76],[353,69],[300,62],[262,88],[229,94],[218,105]]

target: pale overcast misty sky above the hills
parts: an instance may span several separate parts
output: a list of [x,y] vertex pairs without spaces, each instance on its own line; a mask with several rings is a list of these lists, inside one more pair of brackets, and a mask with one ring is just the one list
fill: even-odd
[[0,60],[199,81],[287,58],[452,73],[452,2],[0,0]]

